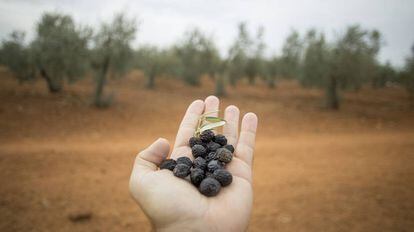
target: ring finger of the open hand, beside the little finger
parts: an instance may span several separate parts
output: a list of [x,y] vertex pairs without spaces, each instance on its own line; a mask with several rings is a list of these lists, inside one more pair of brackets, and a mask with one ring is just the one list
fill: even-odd
[[226,124],[223,128],[223,135],[227,138],[227,143],[233,146],[237,143],[239,132],[239,115],[240,110],[236,106],[228,106],[224,111],[224,120]]

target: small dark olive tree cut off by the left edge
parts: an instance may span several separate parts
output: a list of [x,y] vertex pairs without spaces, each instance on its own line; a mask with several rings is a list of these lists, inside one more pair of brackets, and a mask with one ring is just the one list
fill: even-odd
[[25,33],[14,31],[2,41],[0,63],[12,71],[19,82],[33,80],[35,67],[30,48],[24,45]]

